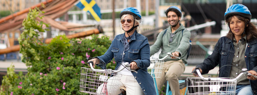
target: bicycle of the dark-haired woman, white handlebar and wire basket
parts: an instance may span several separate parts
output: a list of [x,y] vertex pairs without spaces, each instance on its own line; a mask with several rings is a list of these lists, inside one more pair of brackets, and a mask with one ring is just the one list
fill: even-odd
[[244,72],[236,78],[205,78],[201,75],[199,68],[195,68],[192,73],[199,77],[187,77],[187,95],[235,95],[237,79],[242,75],[252,75],[248,73],[247,69],[241,70]]

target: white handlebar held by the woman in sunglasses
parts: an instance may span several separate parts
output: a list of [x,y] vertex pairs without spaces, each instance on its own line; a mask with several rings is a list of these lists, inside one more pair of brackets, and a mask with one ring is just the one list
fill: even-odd
[[103,72],[103,71],[108,71],[108,72],[112,72],[112,73],[118,73],[118,72],[122,71],[123,69],[125,69],[126,67],[128,67],[129,71],[133,71],[133,72],[136,72],[136,73],[137,73],[137,71],[130,69],[130,64],[129,64],[128,62],[124,63],[124,64],[125,64],[125,67],[122,68],[122,69],[119,69],[119,70],[112,70],[112,69],[94,69],[94,67],[93,67],[93,65],[92,65],[92,64],[94,64],[93,61],[89,61],[89,62],[87,62],[87,63],[90,65],[90,67],[91,67],[91,69],[92,69],[93,71],[102,71],[102,72]]

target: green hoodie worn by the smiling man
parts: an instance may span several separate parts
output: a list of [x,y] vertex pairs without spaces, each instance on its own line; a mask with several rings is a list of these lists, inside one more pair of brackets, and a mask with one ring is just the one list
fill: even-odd
[[[182,36],[182,30],[183,36]],[[153,46],[150,47],[150,56],[154,53],[158,52],[160,48],[164,52],[179,52],[179,57],[182,59],[183,63],[187,64],[187,49],[189,48],[189,40],[191,36],[191,32],[187,30],[182,24],[180,24],[180,27],[174,32],[175,36],[173,36],[173,41],[169,42],[170,34],[171,34],[171,26],[167,28],[167,32],[164,34],[165,30],[163,30],[159,35],[157,36],[157,40],[153,44]],[[164,34],[164,35],[163,35]],[[166,53],[161,52],[159,55],[159,58],[163,58],[166,56]],[[167,57],[164,61],[170,61],[170,60],[178,60],[178,59],[171,59],[171,57]]]

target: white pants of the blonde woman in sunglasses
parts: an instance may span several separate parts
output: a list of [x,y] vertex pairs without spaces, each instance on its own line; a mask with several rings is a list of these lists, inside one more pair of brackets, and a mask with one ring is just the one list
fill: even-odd
[[[117,87],[117,91],[112,91],[113,89],[115,90],[115,88],[113,88],[113,84],[111,81],[115,79],[115,77],[111,77],[110,79],[108,79],[108,83],[107,83],[107,90],[108,90],[108,95],[118,95],[121,93],[120,88],[121,87],[126,87],[126,94],[127,95],[145,95],[145,93],[143,92],[142,88],[140,87],[140,85],[138,84],[137,80],[134,78],[134,76],[128,76],[128,75],[122,75],[120,82],[118,82],[118,87]],[[101,89],[102,85],[98,87]]]

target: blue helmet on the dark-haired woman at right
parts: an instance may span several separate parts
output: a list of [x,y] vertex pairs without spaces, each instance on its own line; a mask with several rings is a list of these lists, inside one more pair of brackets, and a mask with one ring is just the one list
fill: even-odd
[[230,6],[225,12],[225,15],[224,15],[225,20],[227,20],[228,17],[231,15],[240,15],[245,18],[248,18],[249,20],[251,20],[252,18],[252,14],[248,10],[248,8],[242,4],[234,4]]

